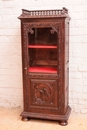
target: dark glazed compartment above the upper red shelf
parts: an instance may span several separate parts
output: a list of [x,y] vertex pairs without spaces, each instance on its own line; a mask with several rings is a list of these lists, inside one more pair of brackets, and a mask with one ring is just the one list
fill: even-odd
[[33,34],[28,34],[29,45],[57,45],[57,33],[51,33],[52,28],[33,28]]

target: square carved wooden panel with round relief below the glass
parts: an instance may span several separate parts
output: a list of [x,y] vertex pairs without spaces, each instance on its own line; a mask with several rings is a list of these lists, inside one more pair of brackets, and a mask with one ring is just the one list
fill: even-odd
[[56,80],[31,80],[31,104],[57,106],[57,101],[55,101],[57,98],[56,90]]

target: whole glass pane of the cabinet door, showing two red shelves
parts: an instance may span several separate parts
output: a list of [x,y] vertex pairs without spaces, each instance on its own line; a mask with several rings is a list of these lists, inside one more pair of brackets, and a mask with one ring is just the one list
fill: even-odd
[[29,72],[57,73],[57,39],[51,27],[28,33]]

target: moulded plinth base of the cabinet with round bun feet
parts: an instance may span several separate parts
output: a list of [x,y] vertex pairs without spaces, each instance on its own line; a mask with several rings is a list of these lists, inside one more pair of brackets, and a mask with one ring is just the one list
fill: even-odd
[[30,113],[30,112],[22,112],[22,121],[28,121],[30,118],[38,118],[38,119],[48,119],[48,120],[57,120],[59,124],[62,126],[66,126],[68,124],[67,120],[71,113],[71,108],[68,106],[68,109],[64,115],[48,115],[42,113]]

